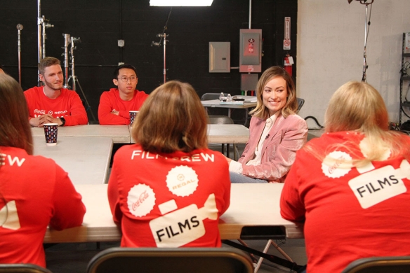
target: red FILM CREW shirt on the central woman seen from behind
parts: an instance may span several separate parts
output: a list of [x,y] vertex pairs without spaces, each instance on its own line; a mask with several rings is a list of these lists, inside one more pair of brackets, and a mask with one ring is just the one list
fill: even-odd
[[139,144],[121,147],[108,183],[121,246],[220,246],[218,219],[229,207],[230,184],[221,153],[155,154]]

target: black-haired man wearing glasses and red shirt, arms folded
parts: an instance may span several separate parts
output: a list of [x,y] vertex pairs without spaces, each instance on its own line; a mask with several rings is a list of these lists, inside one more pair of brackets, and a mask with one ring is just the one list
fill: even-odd
[[121,64],[114,71],[112,79],[118,88],[102,92],[98,106],[100,125],[128,125],[129,111],[139,111],[148,94],[135,90],[138,78],[135,67],[131,64]]

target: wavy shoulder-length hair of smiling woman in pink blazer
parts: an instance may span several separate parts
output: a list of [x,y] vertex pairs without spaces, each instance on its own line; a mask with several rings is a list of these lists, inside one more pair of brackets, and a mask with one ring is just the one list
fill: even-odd
[[296,99],[296,88],[295,83],[293,83],[292,76],[289,75],[289,73],[286,72],[281,66],[272,66],[266,69],[258,80],[258,85],[256,85],[256,108],[253,109],[249,114],[263,119],[270,117],[269,109],[267,109],[267,107],[263,105],[263,88],[270,80],[277,77],[281,77],[286,81],[286,90],[288,92],[286,104],[281,110],[282,116],[286,118],[287,116],[295,113],[295,111],[298,109],[298,100]]

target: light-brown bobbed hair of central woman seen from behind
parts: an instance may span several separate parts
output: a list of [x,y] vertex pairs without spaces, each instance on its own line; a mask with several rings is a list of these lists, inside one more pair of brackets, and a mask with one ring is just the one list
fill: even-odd
[[207,148],[206,112],[189,83],[168,81],[155,89],[132,127],[136,143],[144,151],[172,153]]

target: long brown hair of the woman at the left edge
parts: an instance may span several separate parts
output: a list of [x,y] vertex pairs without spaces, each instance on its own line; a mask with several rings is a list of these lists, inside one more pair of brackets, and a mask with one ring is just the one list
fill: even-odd
[[0,146],[24,149],[33,154],[29,111],[22,89],[7,74],[0,74]]

